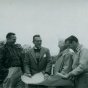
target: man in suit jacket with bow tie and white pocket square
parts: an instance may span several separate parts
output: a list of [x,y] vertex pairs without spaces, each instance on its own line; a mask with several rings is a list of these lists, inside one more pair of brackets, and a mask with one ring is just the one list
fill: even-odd
[[[43,72],[44,78],[47,79],[51,72],[51,55],[48,48],[42,47],[40,35],[33,36],[32,47],[24,59],[24,75],[32,77],[34,74]],[[47,88],[46,86],[28,85],[28,88]]]

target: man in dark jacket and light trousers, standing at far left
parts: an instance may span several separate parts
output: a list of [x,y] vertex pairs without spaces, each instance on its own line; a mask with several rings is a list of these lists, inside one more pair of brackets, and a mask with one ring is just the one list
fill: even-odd
[[22,88],[22,58],[16,42],[15,33],[6,35],[7,42],[0,49],[0,75],[2,75],[3,88]]

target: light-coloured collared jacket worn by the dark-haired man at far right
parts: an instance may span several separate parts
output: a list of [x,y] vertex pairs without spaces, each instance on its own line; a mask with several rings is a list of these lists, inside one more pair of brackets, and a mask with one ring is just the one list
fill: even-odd
[[73,70],[70,72],[74,76],[88,71],[88,49],[79,45],[73,54]]

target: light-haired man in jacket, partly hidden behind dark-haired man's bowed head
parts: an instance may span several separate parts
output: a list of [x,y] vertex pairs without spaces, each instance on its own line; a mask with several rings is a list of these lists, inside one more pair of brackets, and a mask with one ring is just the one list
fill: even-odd
[[[56,75],[58,73],[62,73],[63,75],[65,75],[72,69],[72,54],[68,47],[65,45],[63,39],[59,41],[58,46],[60,48],[59,54],[54,57],[54,60],[52,60],[52,62],[55,63],[53,68],[53,75]],[[57,86],[56,88],[66,87]]]

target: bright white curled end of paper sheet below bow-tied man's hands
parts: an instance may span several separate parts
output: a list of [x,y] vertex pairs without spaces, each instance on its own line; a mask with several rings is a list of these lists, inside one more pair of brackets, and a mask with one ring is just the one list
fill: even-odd
[[22,75],[21,80],[26,84],[38,84],[38,83],[44,81],[44,75],[42,72],[35,74],[31,78],[27,77],[25,75]]

